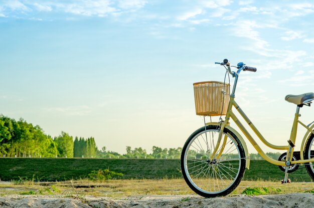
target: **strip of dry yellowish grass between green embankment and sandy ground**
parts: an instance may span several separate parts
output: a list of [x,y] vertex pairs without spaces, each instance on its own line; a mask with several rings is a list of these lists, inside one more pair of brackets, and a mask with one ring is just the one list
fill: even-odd
[[[120,198],[134,195],[158,194],[194,194],[183,179],[127,179],[93,182],[90,180],[75,180],[76,191],[86,195]],[[232,194],[239,194],[247,187],[280,188],[279,193],[304,192],[314,188],[314,182],[291,182],[281,184],[280,181],[242,181]],[[0,195],[21,193],[62,195],[71,190],[71,181],[63,182],[32,182],[8,183],[0,181]]]

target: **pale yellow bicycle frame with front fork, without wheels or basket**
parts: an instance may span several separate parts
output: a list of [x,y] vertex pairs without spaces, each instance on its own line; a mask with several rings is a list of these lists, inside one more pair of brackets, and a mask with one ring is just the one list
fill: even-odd
[[[254,138],[251,136],[251,134],[247,131],[247,129],[243,126],[243,124],[240,122],[240,120],[237,118],[237,116],[234,114],[234,112],[232,111],[232,107],[235,107],[237,109],[237,111],[239,112],[239,114],[242,116],[242,118],[244,118],[244,120],[247,122],[247,124],[251,127],[251,129],[254,131],[254,133],[258,136],[258,138],[264,143],[266,144],[268,147],[273,148],[273,149],[280,149],[280,150],[287,150],[287,157],[286,160],[288,160],[291,162],[291,164],[296,164],[296,163],[305,163],[305,162],[314,162],[314,158],[312,159],[304,159],[303,158],[303,150],[304,150],[304,143],[306,141],[306,139],[308,138],[308,136],[310,135],[310,133],[314,134],[314,124],[312,124],[310,127],[308,127],[307,125],[305,125],[304,123],[302,123],[298,118],[300,116],[299,114],[299,106],[297,106],[296,108],[296,112],[294,115],[294,120],[293,120],[293,124],[292,124],[292,129],[291,129],[291,134],[290,134],[290,139],[288,140],[288,145],[285,146],[281,146],[281,145],[274,145],[269,143],[264,137],[263,135],[258,131],[258,129],[255,127],[255,125],[252,123],[252,121],[246,116],[246,114],[244,113],[244,111],[240,108],[240,106],[236,103],[235,99],[235,89],[236,89],[236,85],[237,85],[237,80],[238,80],[238,74],[234,73],[233,74],[235,76],[235,82],[233,85],[233,90],[232,93],[230,95],[230,100],[229,100],[229,105],[228,105],[228,109],[227,109],[227,114],[226,114],[226,119],[221,123],[220,125],[220,131],[219,131],[219,139],[217,141],[216,147],[214,149],[214,151],[212,152],[211,157],[209,158],[210,160],[212,160],[214,158],[214,156],[216,155],[216,153],[218,152],[218,149],[220,147],[220,143],[222,140],[222,133],[223,133],[223,129],[225,128],[226,125],[229,125],[229,120],[230,118],[232,118],[232,120],[237,124],[237,126],[240,128],[240,130],[243,132],[243,134],[248,138],[248,140],[251,142],[251,144],[254,146],[254,148],[257,150],[257,152],[268,162],[275,164],[275,165],[280,165],[280,166],[285,166],[285,161],[279,161],[279,160],[275,160],[271,157],[269,157],[268,155],[265,154],[265,152],[261,149],[261,147],[256,143],[256,141],[254,140]],[[298,123],[300,123],[302,126],[304,126],[307,129],[307,132],[305,133],[302,143],[301,143],[301,148],[300,148],[300,159],[299,160],[292,160],[292,155],[293,155],[293,150],[294,150],[294,144],[295,144],[295,140],[296,140],[296,132],[297,132],[297,125]],[[206,124],[210,124],[210,123],[206,123]],[[224,148],[224,144],[226,143],[226,136],[224,137],[224,141],[222,144],[222,149]],[[220,152],[216,155],[216,158],[220,157],[222,150],[220,150]],[[246,155],[248,156],[248,155]]]

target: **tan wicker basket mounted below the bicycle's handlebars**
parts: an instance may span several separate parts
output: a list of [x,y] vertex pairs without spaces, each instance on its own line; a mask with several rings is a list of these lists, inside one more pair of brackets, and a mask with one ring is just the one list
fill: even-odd
[[197,115],[225,115],[227,113],[230,84],[220,81],[196,82],[194,86]]

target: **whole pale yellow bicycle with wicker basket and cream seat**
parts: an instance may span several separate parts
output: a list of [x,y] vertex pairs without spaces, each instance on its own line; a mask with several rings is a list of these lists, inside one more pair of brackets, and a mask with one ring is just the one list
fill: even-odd
[[[241,134],[230,126],[230,118],[265,160],[278,165],[285,172],[282,183],[290,182],[288,173],[295,171],[299,165],[305,165],[308,174],[314,180],[314,121],[305,125],[299,120],[300,107],[310,106],[314,93],[285,96],[285,100],[296,104],[291,134],[287,145],[273,145],[262,136],[235,101],[240,72],[255,72],[257,69],[240,62],[237,66],[233,66],[237,71],[232,71],[227,59],[216,63],[225,66],[226,74],[228,72],[235,78],[233,89],[230,93],[230,84],[226,82],[194,83],[196,114],[203,115],[204,121],[206,115],[220,115],[220,121],[205,122],[203,127],[190,135],[183,146],[181,169],[190,188],[204,197],[227,195],[238,186],[245,168],[249,168],[250,157],[246,143]],[[264,144],[286,152],[278,160],[266,155],[234,114],[234,108]],[[226,115],[224,120],[221,118],[222,115]],[[300,151],[294,151],[298,124],[305,127],[307,131],[301,142]]]

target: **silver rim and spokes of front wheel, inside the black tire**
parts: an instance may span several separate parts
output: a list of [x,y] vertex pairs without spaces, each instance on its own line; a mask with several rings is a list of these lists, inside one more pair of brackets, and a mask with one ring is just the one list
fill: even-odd
[[[219,131],[207,129],[194,136],[189,142],[184,155],[184,169],[187,179],[199,191],[216,194],[226,191],[236,181],[241,168],[241,155],[236,140],[223,134],[219,150],[213,161],[209,161],[211,152],[217,143]],[[226,144],[221,156],[224,137]]]

